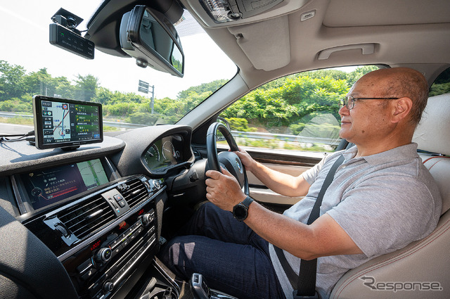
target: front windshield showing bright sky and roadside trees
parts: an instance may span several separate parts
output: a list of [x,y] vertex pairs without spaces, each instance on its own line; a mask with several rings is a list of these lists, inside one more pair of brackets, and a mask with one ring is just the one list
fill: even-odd
[[[174,124],[236,74],[236,65],[187,11],[175,25],[185,55],[183,78],[140,68],[134,58],[96,49],[94,60],[88,60],[49,43],[49,24],[58,9],[84,18],[77,29],[86,30],[100,2],[0,4],[1,134],[32,130],[34,95],[101,103],[107,132]],[[139,82],[148,84],[148,89],[139,89]]]

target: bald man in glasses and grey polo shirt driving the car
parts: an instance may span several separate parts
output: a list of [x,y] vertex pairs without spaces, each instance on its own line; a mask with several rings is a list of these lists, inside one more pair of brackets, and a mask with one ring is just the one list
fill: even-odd
[[[339,110],[340,137],[356,146],[327,155],[298,177],[236,152],[269,189],[304,198],[281,215],[248,198],[227,170],[210,170],[209,203],[186,224],[184,236],[162,249],[163,262],[184,279],[199,272],[211,288],[237,298],[293,298],[295,284],[276,253],[281,250],[296,275],[301,259],[317,258],[316,290],[328,298],[349,269],[435,229],[441,198],[411,143],[427,100],[428,83],[420,72],[375,70],[353,85]],[[319,217],[307,225],[338,159],[342,164],[336,165]],[[233,215],[239,204],[247,211]]]

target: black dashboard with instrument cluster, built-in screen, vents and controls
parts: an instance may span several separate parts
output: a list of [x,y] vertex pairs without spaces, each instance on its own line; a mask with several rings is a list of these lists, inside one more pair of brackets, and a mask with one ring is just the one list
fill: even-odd
[[177,297],[176,283],[153,259],[166,179],[195,162],[191,133],[144,127],[75,151],[1,143],[0,249],[8,254],[0,257],[0,279],[30,292],[25,298],[109,299],[159,275],[157,286]]

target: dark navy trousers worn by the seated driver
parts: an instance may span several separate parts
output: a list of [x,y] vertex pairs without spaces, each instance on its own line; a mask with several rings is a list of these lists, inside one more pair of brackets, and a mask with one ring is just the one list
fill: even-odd
[[285,298],[269,256],[269,243],[231,212],[203,205],[161,250],[177,276],[203,274],[208,286],[239,299]]

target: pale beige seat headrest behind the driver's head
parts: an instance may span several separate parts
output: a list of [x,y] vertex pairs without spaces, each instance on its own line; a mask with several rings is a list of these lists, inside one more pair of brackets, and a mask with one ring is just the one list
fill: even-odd
[[450,155],[450,94],[428,98],[422,120],[416,127],[413,142],[418,149]]

